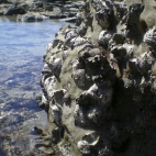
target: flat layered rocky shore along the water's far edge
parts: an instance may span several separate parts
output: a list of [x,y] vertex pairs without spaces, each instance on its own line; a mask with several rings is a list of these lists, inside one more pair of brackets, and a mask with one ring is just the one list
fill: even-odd
[[18,15],[16,21],[41,22],[45,19],[75,21],[82,1],[26,0],[0,1],[0,15]]

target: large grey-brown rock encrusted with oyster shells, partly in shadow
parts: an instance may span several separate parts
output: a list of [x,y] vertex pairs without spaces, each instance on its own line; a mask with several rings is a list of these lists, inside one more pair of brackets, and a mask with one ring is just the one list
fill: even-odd
[[156,23],[147,11],[156,15],[153,0],[85,0],[77,26],[47,45],[40,105],[59,155],[156,154]]

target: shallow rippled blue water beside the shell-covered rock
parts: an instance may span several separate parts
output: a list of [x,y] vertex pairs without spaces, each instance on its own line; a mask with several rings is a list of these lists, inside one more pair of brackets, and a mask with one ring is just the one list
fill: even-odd
[[41,91],[40,75],[45,47],[64,24],[49,20],[19,23],[14,18],[0,18],[1,156],[1,151],[11,156],[24,155],[24,151],[31,151],[30,133],[33,124],[47,126],[44,122],[46,113],[37,108],[35,94]]

